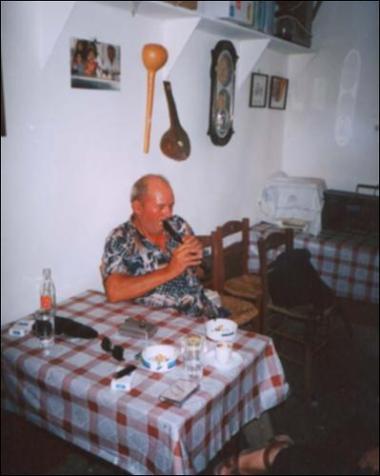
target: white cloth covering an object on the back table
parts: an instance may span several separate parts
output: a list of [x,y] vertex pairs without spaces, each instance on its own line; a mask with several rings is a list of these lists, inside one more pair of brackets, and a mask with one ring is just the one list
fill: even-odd
[[266,180],[259,198],[262,218],[276,225],[282,225],[284,220],[301,220],[304,231],[318,235],[325,189],[325,181],[320,178],[276,173]]

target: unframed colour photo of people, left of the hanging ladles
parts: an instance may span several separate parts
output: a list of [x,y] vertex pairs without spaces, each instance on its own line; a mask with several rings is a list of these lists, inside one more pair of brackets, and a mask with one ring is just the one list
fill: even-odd
[[72,38],[71,87],[120,90],[120,46]]

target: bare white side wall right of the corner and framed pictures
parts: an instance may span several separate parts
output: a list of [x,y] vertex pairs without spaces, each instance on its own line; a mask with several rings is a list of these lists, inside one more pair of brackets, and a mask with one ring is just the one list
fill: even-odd
[[340,190],[378,184],[379,3],[323,2],[313,32],[316,54],[289,60],[283,168]]

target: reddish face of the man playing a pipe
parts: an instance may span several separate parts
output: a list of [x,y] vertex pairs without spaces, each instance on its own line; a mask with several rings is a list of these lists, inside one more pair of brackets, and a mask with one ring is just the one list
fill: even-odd
[[160,235],[162,222],[173,214],[174,194],[172,189],[159,180],[152,181],[148,192],[132,204],[133,211],[143,229],[152,235]]

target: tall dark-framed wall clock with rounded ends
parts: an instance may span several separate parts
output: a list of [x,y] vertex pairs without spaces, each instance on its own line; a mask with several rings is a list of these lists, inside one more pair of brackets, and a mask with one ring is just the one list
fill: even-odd
[[215,145],[226,145],[233,130],[235,72],[238,56],[230,41],[219,41],[211,52],[210,116],[207,134]]

